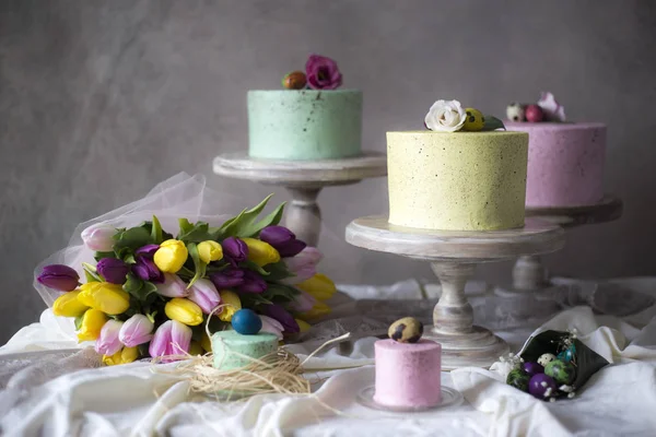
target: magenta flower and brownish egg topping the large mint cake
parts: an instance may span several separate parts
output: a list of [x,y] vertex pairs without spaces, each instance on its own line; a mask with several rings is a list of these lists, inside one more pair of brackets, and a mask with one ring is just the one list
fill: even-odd
[[288,90],[337,90],[342,84],[342,75],[332,59],[311,55],[305,62],[305,72],[292,71],[282,78],[282,86]]

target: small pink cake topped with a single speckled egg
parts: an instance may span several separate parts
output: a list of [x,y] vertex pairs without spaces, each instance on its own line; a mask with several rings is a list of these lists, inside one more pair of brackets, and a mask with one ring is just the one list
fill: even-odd
[[387,406],[427,408],[442,401],[442,346],[431,340],[378,340],[374,401]]

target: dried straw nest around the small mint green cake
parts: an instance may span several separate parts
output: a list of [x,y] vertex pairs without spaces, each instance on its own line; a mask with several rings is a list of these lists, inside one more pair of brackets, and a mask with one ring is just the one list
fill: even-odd
[[[208,331],[209,335],[207,324],[206,331]],[[211,335],[209,336],[211,338]],[[175,357],[177,359],[186,359],[186,362],[180,363],[172,370],[156,369],[155,371],[186,379],[189,381],[191,391],[212,394],[226,401],[247,399],[255,394],[268,393],[309,394],[311,382],[303,377],[303,373],[305,371],[303,365],[325,346],[345,340],[349,336],[350,333],[347,333],[327,341],[303,362],[284,347],[279,347],[278,351],[265,355],[259,359],[231,351],[231,354],[249,363],[244,367],[229,370],[214,368],[212,366],[214,356],[212,353],[207,353],[202,356],[186,355]]]

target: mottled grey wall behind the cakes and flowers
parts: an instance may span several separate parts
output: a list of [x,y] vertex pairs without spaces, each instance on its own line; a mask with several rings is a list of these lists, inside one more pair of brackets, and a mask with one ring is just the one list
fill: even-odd
[[[33,268],[78,223],[180,170],[234,193],[230,211],[266,196],[213,176],[211,161],[246,147],[247,90],[278,88],[312,51],[364,91],[368,150],[385,150],[387,130],[421,127],[437,98],[502,115],[544,90],[571,119],[607,122],[606,185],[624,216],[573,231],[547,263],[577,276],[656,271],[653,1],[4,0],[0,10],[0,343],[38,319]],[[385,179],[320,201],[337,281],[431,277],[342,240],[352,218],[386,211]],[[502,282],[509,269],[478,274]]]

